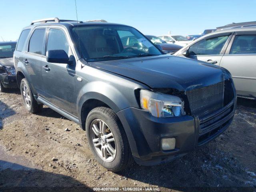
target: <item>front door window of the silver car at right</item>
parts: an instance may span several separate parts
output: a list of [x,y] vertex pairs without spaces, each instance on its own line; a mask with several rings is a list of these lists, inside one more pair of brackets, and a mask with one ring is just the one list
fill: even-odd
[[210,39],[203,39],[196,42],[188,49],[188,54],[193,55],[219,55],[224,44],[228,39],[227,36],[218,36]]

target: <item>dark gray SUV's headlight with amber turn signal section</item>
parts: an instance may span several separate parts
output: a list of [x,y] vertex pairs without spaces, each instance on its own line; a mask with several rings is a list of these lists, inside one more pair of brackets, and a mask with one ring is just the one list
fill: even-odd
[[183,102],[177,96],[140,90],[140,106],[155,117],[184,115]]

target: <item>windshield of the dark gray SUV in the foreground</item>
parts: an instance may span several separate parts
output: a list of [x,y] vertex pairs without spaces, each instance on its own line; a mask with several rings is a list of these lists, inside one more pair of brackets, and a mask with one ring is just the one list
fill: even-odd
[[82,57],[90,61],[162,54],[152,42],[129,26],[88,25],[73,28]]

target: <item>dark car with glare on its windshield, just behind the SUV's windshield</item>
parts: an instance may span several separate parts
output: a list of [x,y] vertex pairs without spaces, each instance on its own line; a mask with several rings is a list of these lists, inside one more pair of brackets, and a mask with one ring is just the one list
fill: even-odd
[[177,52],[178,50],[180,50],[182,48],[182,46],[180,46],[180,45],[169,44],[169,43],[165,42],[164,40],[162,40],[161,38],[159,38],[157,36],[146,35],[146,37],[152,43],[160,45],[161,48],[162,48],[162,52],[164,52],[166,54],[173,54],[173,53]]

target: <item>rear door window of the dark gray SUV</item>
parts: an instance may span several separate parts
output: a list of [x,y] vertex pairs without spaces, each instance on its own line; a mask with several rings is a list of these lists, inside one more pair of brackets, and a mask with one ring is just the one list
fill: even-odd
[[45,34],[45,28],[34,30],[29,41],[28,52],[36,53],[40,55],[44,54],[44,51],[43,51],[44,34]]

